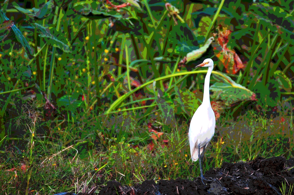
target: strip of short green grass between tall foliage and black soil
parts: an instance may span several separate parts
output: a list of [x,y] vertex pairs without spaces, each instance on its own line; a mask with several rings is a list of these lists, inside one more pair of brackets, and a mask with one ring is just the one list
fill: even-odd
[[[293,157],[293,123],[290,123],[292,116],[287,115],[287,111],[289,110],[286,107],[281,107],[278,110],[279,116],[273,119],[252,111],[236,121],[221,116],[216,122],[216,133],[206,150],[204,172],[220,167],[223,162],[248,161],[257,156],[268,158],[282,155],[287,159]],[[162,115],[158,115],[158,118],[161,117]],[[95,135],[97,131],[103,132],[95,128],[103,119],[96,118],[91,123],[95,127],[88,130],[90,136],[86,141],[100,139],[99,147],[94,146],[91,149],[61,147],[61,141],[55,140],[55,144],[44,142],[35,135],[20,140],[22,144],[25,142],[25,149],[19,151],[19,142],[13,140],[11,148],[0,159],[0,185],[4,192],[17,194],[20,191],[22,194],[28,187],[28,192],[35,190],[34,193],[40,194],[65,191],[78,193],[82,191],[85,182],[90,189],[93,185],[106,184],[114,179],[125,185],[134,185],[146,179],[158,181],[178,177],[193,179],[199,176],[198,163],[191,162],[187,122],[180,125],[173,119],[170,125],[162,129],[164,134],[155,142],[154,151],[150,152],[146,146],[151,134],[146,133],[146,124],[138,125],[132,111],[123,112],[113,118],[113,121],[102,122],[101,126],[111,129],[113,123],[120,122],[121,129],[112,132],[108,129],[103,134],[98,133],[96,138],[91,135]],[[159,121],[155,121],[153,125],[161,125]],[[30,124],[32,130],[34,123]],[[68,134],[71,133],[73,132],[69,130]],[[61,136],[60,140],[62,139],[64,137]],[[168,147],[161,147],[163,139],[168,140]],[[138,144],[141,146],[131,147]],[[78,148],[77,145],[74,147]],[[16,169],[15,176],[14,171],[6,171],[20,167],[20,163],[29,165],[25,172]]]

